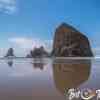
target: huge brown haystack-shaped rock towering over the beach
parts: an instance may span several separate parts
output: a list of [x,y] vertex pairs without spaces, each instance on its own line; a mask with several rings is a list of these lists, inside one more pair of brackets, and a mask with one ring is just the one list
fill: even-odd
[[88,38],[72,26],[62,23],[55,32],[52,55],[56,57],[92,57]]

